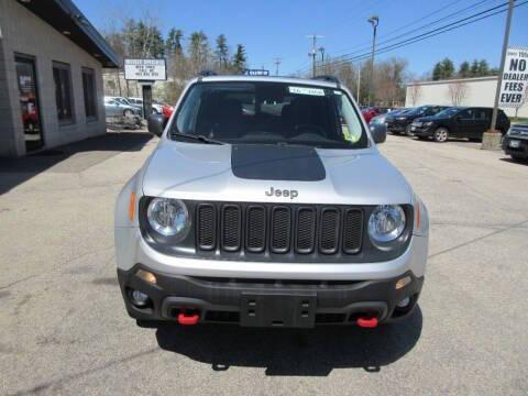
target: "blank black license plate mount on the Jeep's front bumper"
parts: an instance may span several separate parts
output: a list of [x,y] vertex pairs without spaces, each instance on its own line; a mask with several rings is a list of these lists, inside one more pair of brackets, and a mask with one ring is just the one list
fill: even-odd
[[316,322],[316,294],[242,294],[240,324],[311,328]]

